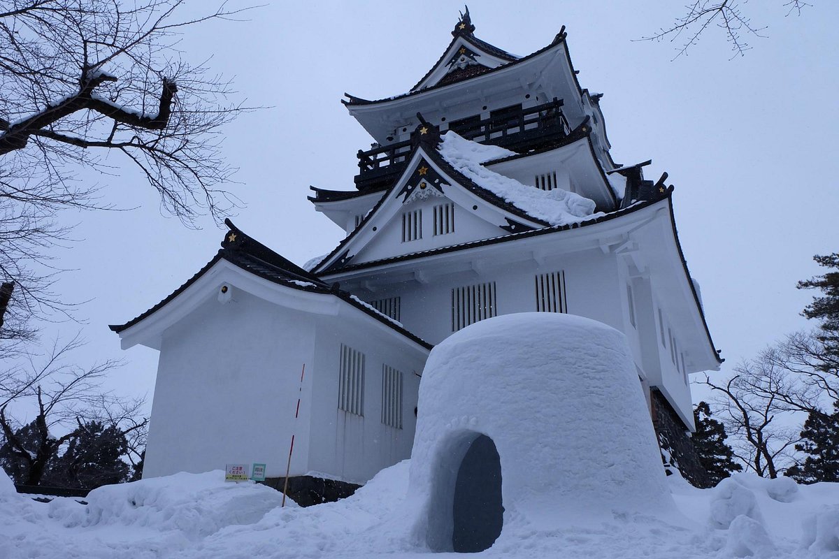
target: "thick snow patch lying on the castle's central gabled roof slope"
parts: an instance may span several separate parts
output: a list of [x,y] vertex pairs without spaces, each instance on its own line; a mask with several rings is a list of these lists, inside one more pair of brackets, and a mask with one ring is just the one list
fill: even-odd
[[579,223],[602,215],[594,215],[595,203],[591,199],[563,189],[536,189],[482,165],[492,159],[515,155],[508,149],[472,142],[451,130],[443,135],[439,149],[447,163],[482,189],[489,190],[527,215],[550,225]]

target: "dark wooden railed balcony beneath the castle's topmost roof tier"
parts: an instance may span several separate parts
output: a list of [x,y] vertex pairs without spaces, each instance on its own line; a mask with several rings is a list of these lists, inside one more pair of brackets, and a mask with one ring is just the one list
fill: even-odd
[[[449,123],[449,130],[473,142],[525,153],[561,141],[571,132],[571,127],[562,114],[562,100],[554,99],[526,109],[511,106],[492,111],[488,118],[476,115],[453,121]],[[408,163],[410,151],[410,140],[366,152],[359,150],[356,188],[372,190],[391,184]]]

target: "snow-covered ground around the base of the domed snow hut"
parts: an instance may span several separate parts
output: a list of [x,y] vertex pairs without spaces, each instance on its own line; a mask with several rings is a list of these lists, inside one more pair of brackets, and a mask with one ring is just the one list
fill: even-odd
[[[281,494],[225,484],[221,471],[177,474],[91,492],[89,505],[14,493],[0,474],[0,557],[420,557],[400,529],[409,463],[383,470],[349,499],[280,508]],[[568,524],[545,510],[539,530],[502,532],[480,556],[839,557],[839,484],[737,474],[715,489],[668,478],[679,515],[616,515]],[[442,554],[451,556],[455,554]],[[440,556],[435,554],[434,556]]]

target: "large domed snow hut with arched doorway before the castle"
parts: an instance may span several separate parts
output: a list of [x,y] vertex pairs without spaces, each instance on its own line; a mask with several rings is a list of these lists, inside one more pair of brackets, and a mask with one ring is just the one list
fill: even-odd
[[498,544],[584,518],[675,515],[630,355],[618,330],[557,313],[489,318],[435,346],[411,453],[416,540],[446,551],[458,468],[481,435],[500,461]]

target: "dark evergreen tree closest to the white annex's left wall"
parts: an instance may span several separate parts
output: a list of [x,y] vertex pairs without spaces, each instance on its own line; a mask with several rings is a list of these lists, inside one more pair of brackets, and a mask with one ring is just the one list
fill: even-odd
[[80,422],[66,452],[50,463],[43,484],[96,489],[121,483],[130,475],[130,467],[121,458],[127,452],[128,441],[118,427],[96,421]]

